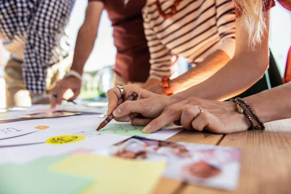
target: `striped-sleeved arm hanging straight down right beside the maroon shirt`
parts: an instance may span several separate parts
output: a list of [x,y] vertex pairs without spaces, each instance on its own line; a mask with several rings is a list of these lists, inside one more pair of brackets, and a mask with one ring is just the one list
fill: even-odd
[[172,61],[170,51],[157,38],[146,13],[143,14],[143,18],[147,46],[150,53],[149,62],[151,64],[149,78],[144,88],[150,89],[160,83],[162,76],[170,77],[172,75],[170,70]]

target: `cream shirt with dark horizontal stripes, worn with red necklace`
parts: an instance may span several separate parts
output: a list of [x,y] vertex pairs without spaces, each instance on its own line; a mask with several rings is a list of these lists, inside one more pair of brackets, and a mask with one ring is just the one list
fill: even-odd
[[[159,0],[168,13],[175,0]],[[150,51],[150,78],[171,76],[171,56],[199,65],[216,50],[230,58],[235,49],[235,13],[231,0],[180,0],[177,13],[163,19],[155,3],[143,9],[144,28]]]

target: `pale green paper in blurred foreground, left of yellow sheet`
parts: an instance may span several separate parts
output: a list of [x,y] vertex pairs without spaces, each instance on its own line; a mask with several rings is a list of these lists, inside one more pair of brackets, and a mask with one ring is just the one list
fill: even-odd
[[70,156],[44,157],[33,162],[0,166],[0,194],[75,194],[92,178],[53,172],[49,168]]

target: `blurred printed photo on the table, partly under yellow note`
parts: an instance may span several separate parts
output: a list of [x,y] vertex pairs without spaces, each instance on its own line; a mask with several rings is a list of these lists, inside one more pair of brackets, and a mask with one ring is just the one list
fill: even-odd
[[165,178],[234,190],[241,150],[234,147],[165,142],[133,137],[95,154],[146,161],[165,161]]

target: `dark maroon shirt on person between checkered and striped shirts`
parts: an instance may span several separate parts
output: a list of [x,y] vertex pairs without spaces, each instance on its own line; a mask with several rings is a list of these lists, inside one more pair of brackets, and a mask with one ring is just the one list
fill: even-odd
[[[93,1],[93,0],[89,0]],[[149,76],[149,51],[143,26],[142,8],[146,0],[99,0],[113,26],[117,49],[114,71],[125,81],[145,82]]]

